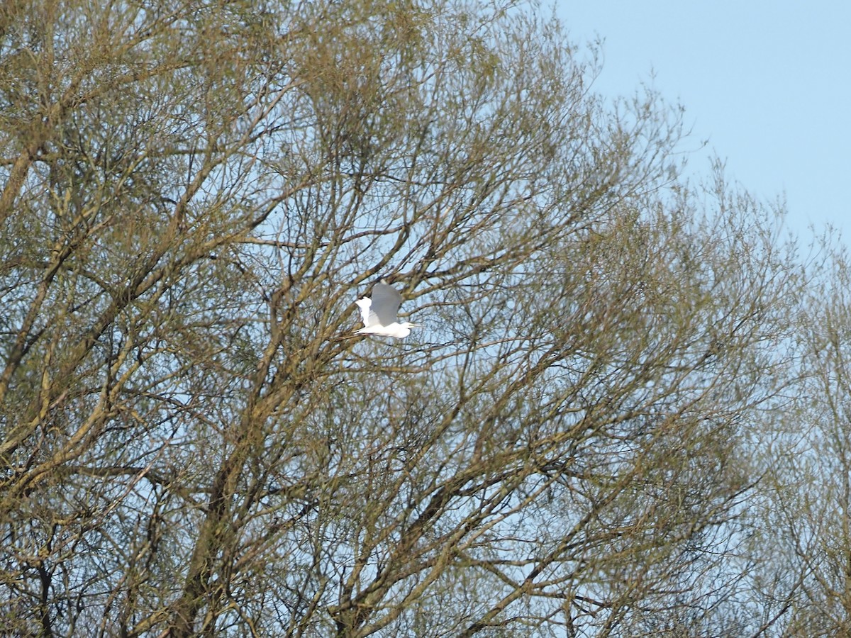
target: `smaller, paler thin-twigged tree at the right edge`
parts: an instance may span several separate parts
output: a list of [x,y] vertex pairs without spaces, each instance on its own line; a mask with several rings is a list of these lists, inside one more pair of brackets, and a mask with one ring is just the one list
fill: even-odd
[[797,315],[797,392],[771,421],[762,525],[772,530],[762,595],[787,610],[785,635],[851,633],[848,254],[816,243]]

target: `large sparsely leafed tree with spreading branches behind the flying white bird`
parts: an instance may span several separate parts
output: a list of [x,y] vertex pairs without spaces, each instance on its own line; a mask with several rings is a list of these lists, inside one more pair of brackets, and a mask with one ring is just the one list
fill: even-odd
[[797,278],[676,110],[513,3],[0,11],[10,631],[733,622]]

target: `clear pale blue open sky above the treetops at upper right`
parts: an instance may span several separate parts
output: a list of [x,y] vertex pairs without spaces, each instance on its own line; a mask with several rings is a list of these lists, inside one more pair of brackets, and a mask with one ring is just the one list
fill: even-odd
[[831,224],[849,243],[851,2],[554,2],[572,43],[604,41],[598,92],[650,83],[685,107],[693,147],[709,142],[691,171],[717,155],[763,201],[785,196],[790,231]]

